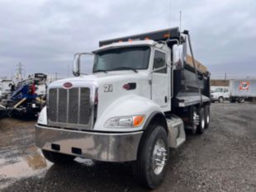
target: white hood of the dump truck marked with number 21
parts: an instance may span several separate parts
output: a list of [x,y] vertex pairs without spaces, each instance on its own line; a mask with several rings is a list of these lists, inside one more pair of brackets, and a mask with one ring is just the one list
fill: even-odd
[[[117,100],[128,95],[150,96],[150,85],[147,71],[116,71],[108,73],[94,73],[81,77],[72,77],[52,82],[51,88],[64,87],[67,83],[71,87],[90,87],[93,98],[97,90],[97,116],[100,117],[108,107]],[[71,84],[70,84],[71,83]],[[132,83],[133,88],[127,90],[124,85]]]

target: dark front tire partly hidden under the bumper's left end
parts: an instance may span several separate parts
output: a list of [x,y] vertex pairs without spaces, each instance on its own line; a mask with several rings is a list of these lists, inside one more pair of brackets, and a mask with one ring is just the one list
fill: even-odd
[[50,152],[42,149],[42,152],[47,160],[55,164],[66,164],[73,162],[74,156],[66,155],[59,152]]

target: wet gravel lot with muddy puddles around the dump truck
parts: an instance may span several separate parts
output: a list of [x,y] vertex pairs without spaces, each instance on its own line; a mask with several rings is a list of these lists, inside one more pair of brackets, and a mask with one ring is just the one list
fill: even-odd
[[[45,161],[34,144],[35,121],[0,120],[2,191],[148,191],[129,164],[72,165]],[[256,191],[256,104],[213,104],[206,133],[188,135],[171,150],[163,185],[155,191]]]

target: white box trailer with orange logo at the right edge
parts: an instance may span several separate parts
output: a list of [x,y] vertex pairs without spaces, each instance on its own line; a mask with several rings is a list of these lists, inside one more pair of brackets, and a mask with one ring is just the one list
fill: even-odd
[[256,79],[230,80],[230,102],[256,101]]

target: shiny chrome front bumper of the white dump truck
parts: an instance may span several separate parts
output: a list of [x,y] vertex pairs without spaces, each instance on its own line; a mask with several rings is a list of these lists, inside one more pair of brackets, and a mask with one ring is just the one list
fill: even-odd
[[102,162],[135,161],[143,132],[95,133],[36,124],[36,146]]

